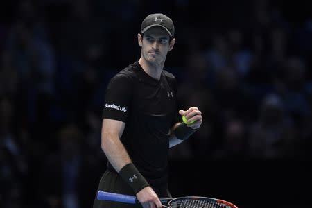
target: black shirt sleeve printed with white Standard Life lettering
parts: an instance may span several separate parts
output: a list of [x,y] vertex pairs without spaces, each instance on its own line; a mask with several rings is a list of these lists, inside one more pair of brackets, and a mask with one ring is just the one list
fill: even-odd
[[114,76],[107,85],[102,119],[125,122],[132,98],[132,79],[123,74]]

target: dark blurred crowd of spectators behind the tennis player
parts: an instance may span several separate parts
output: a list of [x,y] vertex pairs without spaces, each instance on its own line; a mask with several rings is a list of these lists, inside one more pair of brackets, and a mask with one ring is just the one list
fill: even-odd
[[172,161],[312,158],[311,17],[281,1],[157,2],[1,3],[0,207],[91,207],[105,87],[139,58],[150,12],[175,22],[166,70],[180,109],[204,118]]

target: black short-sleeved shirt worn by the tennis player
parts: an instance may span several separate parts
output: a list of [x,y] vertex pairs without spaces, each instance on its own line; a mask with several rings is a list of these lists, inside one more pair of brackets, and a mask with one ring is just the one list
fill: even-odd
[[[168,138],[179,118],[175,76],[168,71],[156,80],[135,62],[107,86],[103,119],[125,122],[121,142],[152,187],[167,183]],[[113,170],[109,162],[107,168]]]

